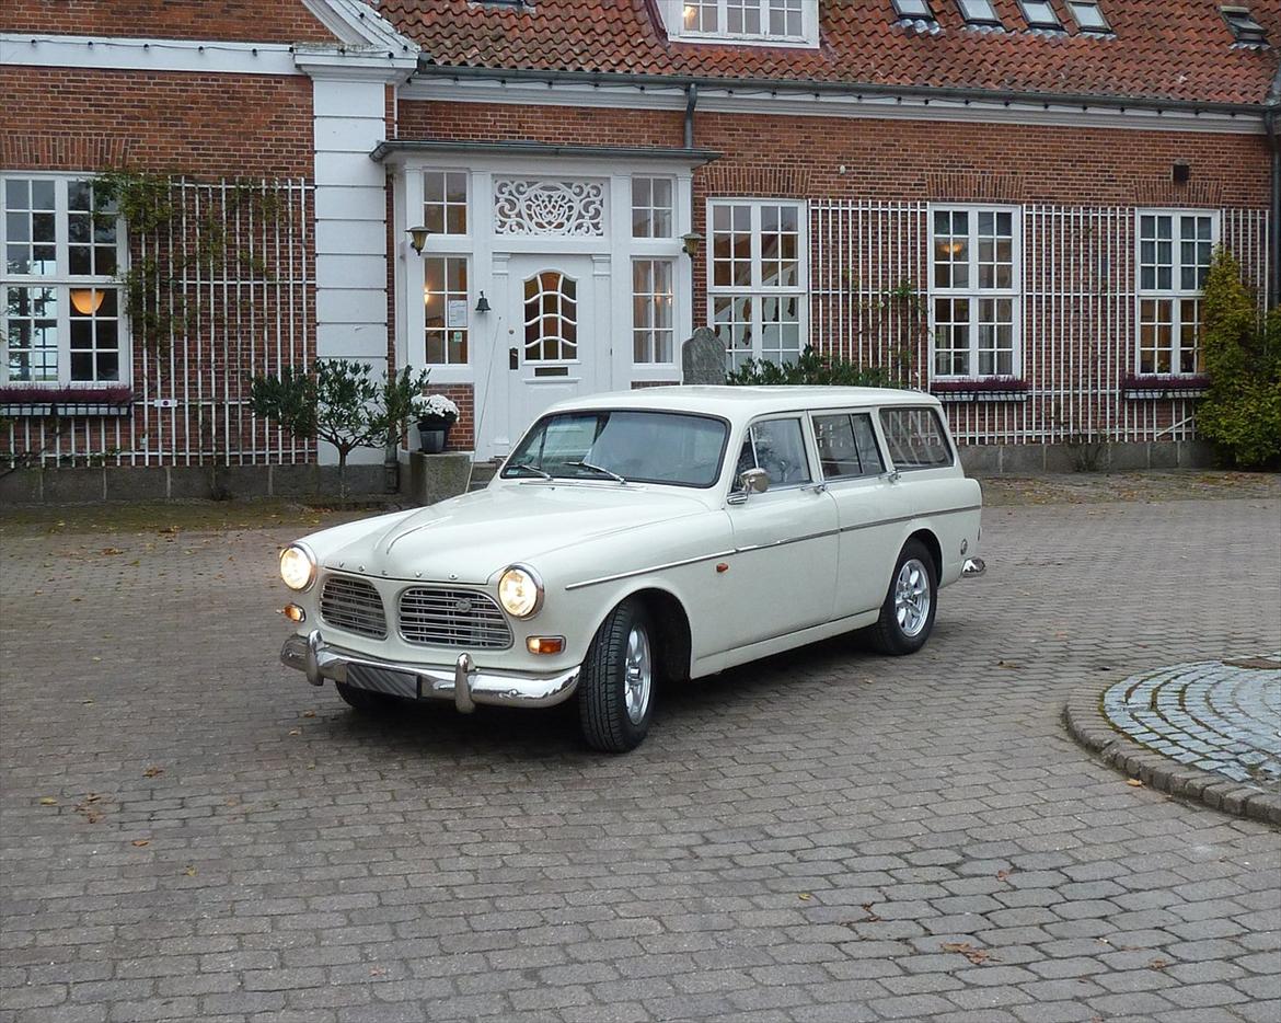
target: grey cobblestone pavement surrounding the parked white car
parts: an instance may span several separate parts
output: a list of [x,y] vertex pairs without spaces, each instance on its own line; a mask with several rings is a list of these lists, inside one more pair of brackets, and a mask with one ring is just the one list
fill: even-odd
[[623,758],[569,714],[307,687],[286,528],[8,536],[0,1023],[1275,1023],[1278,833],[1059,714],[1281,646],[1278,514],[994,509],[918,655],[666,694]]

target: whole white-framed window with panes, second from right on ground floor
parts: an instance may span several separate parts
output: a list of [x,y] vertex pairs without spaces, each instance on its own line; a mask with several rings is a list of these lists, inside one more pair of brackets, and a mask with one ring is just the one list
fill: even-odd
[[1020,212],[930,209],[930,370],[934,378],[1021,372]]

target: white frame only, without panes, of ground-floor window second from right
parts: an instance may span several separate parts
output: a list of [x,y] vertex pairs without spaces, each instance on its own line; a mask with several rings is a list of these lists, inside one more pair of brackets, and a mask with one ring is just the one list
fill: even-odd
[[[934,276],[934,214],[935,213],[965,212],[968,218],[968,285],[965,287],[938,287]],[[1011,214],[1011,268],[1009,287],[980,287],[979,285],[979,214],[980,213],[1008,213]],[[927,246],[929,246],[929,327],[930,327],[930,379],[957,381],[957,379],[1000,379],[1007,376],[1022,377],[1024,373],[1024,338],[1022,338],[1022,313],[1024,313],[1024,209],[1012,205],[991,205],[972,203],[938,203],[930,204],[926,213]],[[938,340],[934,315],[935,299],[968,299],[970,300],[970,372],[968,373],[939,373],[935,369],[935,345]],[[1009,299],[1011,300],[1011,370],[1006,373],[980,373],[979,372],[979,303],[984,299]]]

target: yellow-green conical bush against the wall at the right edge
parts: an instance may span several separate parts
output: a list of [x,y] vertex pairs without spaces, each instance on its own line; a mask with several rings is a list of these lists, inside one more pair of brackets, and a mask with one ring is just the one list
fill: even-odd
[[1209,391],[1196,428],[1239,468],[1281,460],[1281,306],[1259,322],[1254,296],[1227,249],[1211,260],[1202,300]]

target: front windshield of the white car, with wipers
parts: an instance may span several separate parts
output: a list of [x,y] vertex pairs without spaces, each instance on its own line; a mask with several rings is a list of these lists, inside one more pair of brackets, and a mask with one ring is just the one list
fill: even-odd
[[728,428],[666,412],[565,412],[541,419],[502,470],[505,479],[569,478],[710,487]]

